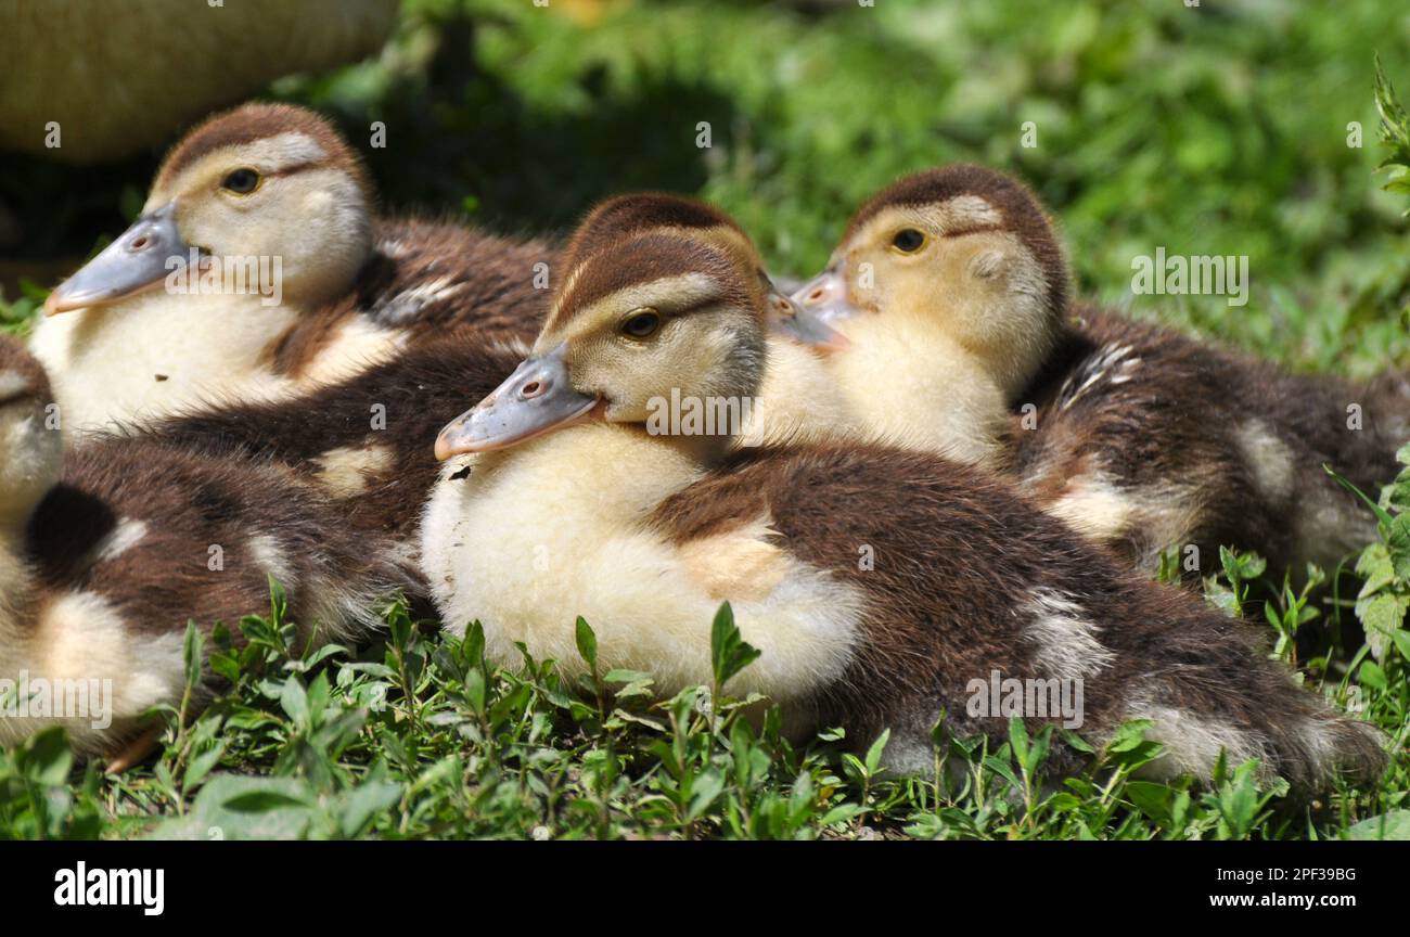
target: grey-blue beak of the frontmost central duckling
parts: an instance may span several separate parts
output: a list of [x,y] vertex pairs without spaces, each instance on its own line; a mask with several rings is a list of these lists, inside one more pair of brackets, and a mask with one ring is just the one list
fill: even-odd
[[565,345],[529,358],[502,385],[460,414],[436,438],[436,458],[503,449],[526,440],[582,423],[601,397],[578,393],[568,380]]

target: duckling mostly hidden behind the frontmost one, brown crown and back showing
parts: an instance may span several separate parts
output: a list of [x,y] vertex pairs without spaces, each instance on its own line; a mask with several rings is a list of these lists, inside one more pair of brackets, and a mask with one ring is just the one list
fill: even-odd
[[[828,330],[809,328],[808,316],[794,316],[792,304],[773,290],[753,242],[733,218],[695,199],[664,193],[609,199],[589,211],[565,256],[589,235],[650,231],[691,232],[759,271],[770,290],[773,321],[787,316],[790,330],[826,344]],[[754,445],[768,434],[832,435],[852,426],[816,352],[783,337],[767,341],[770,380],[750,409],[740,442]],[[406,557],[415,557],[420,511],[439,471],[431,455],[439,431],[464,410],[467,397],[489,395],[527,352],[527,344],[516,348],[451,334],[292,403],[207,407],[138,431],[213,455],[237,452],[289,465],[336,499],[352,528],[391,535],[405,545]]]

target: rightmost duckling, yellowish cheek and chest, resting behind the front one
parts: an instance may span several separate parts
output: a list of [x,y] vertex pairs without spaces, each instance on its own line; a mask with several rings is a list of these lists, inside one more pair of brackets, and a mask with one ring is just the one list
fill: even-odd
[[956,165],[867,201],[794,299],[849,338],[830,368],[871,426],[1008,472],[1144,568],[1179,547],[1208,575],[1220,545],[1330,566],[1375,535],[1323,465],[1394,476],[1392,395],[1069,306],[1067,279],[1034,194]]

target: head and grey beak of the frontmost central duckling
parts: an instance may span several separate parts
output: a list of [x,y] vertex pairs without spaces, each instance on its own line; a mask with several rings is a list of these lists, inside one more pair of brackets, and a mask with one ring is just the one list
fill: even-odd
[[739,411],[759,390],[766,289],[742,252],[685,228],[574,244],[533,354],[441,431],[439,458],[591,418],[650,428],[667,406]]

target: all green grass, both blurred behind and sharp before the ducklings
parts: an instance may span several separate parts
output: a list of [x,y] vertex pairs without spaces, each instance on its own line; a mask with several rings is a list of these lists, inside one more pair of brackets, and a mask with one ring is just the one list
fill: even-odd
[[[271,94],[326,110],[360,142],[386,121],[388,148],[368,158],[392,209],[544,232],[611,192],[692,192],[788,273],[819,266],[847,213],[895,175],[977,159],[1035,186],[1084,294],[1292,369],[1365,376],[1410,362],[1410,135],[1373,66],[1379,49],[1390,79],[1410,80],[1393,6],[883,0],[814,15],[637,1],[585,28],[517,0],[407,0],[376,62]],[[709,149],[695,147],[701,121]],[[27,255],[82,255],[113,234],[155,156],[0,175]],[[1246,254],[1249,304],[1132,297],[1131,256],[1160,245]],[[0,328],[23,327],[42,286],[0,299]],[[1053,740],[1017,726],[998,748],[938,747],[948,783],[891,778],[876,768],[884,740],[823,733],[795,748],[718,686],[660,702],[642,675],[578,686],[551,662],[486,666],[474,628],[444,637],[400,606],[375,647],[290,652],[276,600],[240,626],[247,650],[217,634],[234,689],[199,716],[166,713],[155,764],[106,778],[54,734],[0,752],[0,837],[1404,838],[1410,482],[1378,507],[1380,538],[1354,572],[1328,571],[1324,595],[1251,557],[1227,555],[1206,583],[1392,738],[1378,785],[1311,805],[1241,765],[1207,788],[1132,781],[1155,755],[1141,726],[1056,785],[1036,782]],[[591,628],[580,647],[591,658]]]

